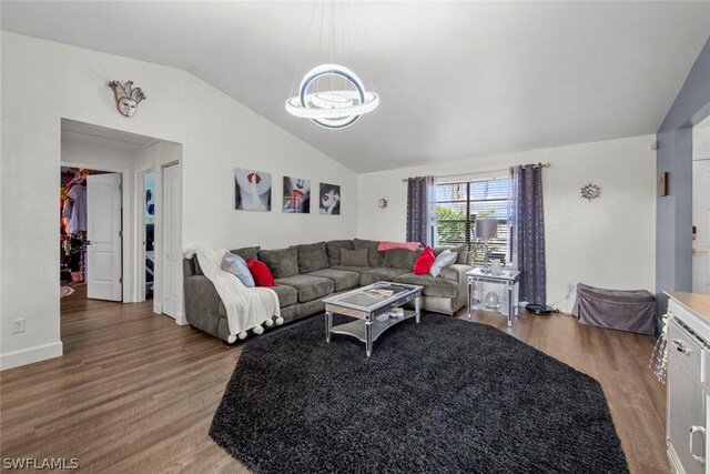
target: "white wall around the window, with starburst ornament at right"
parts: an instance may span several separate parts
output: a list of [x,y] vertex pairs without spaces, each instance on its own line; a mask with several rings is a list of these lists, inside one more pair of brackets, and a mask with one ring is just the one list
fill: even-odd
[[[403,178],[501,171],[513,164],[550,162],[542,172],[548,303],[565,297],[567,283],[618,290],[655,289],[656,152],[652,135],[460,160],[358,177],[358,235],[405,239]],[[495,174],[495,173],[494,173]],[[601,186],[587,201],[580,189]],[[386,198],[389,206],[377,208]],[[574,297],[558,307],[570,311]]]

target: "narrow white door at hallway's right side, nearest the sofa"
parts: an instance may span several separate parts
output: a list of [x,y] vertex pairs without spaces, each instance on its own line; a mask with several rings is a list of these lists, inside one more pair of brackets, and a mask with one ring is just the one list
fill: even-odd
[[180,245],[180,169],[172,164],[163,169],[163,313],[179,319],[182,293],[182,249]]

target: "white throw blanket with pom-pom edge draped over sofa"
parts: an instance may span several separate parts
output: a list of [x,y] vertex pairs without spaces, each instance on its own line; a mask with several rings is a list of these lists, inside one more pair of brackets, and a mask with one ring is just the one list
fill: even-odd
[[256,332],[261,333],[263,323],[273,321],[274,317],[282,320],[275,291],[270,288],[246,288],[240,279],[222,270],[222,258],[226,252],[224,249],[195,246],[189,249],[185,256],[192,259],[196,254],[202,273],[214,283],[226,309],[230,324],[229,342],[234,342],[240,333],[255,327],[258,327]]

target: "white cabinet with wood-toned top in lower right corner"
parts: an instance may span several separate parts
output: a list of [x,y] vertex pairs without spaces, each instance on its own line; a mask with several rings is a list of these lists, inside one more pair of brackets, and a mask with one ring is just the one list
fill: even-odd
[[668,457],[676,473],[710,474],[710,296],[669,295]]

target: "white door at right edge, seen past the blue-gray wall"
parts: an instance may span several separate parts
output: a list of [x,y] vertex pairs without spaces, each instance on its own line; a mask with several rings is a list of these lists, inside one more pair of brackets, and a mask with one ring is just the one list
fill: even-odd
[[710,294],[710,160],[692,164],[692,292]]

